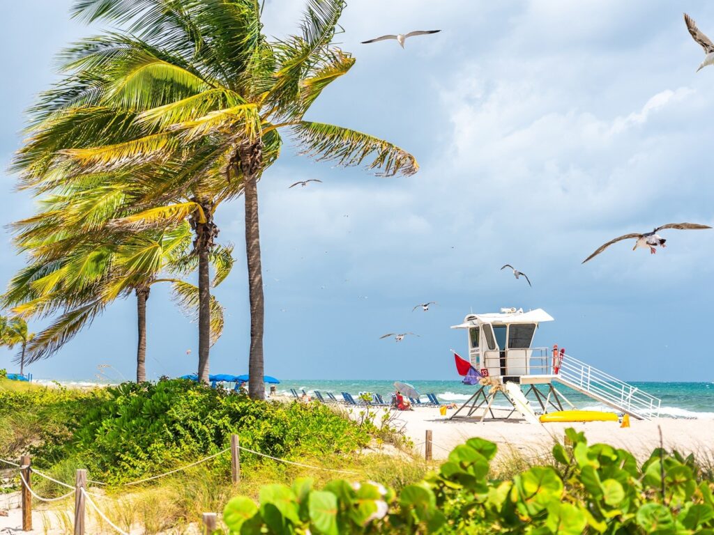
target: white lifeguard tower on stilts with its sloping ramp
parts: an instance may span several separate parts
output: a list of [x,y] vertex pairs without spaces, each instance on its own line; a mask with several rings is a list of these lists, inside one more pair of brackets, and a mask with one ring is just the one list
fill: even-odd
[[[537,412],[562,411],[563,403],[574,408],[555,383],[636,419],[659,416],[660,399],[570,355],[556,356],[548,347],[533,347],[538,325],[551,321],[553,317],[540,308],[528,312],[502,308],[496,313],[470,314],[461,324],[453,325],[452,329],[466,330],[468,360],[480,378],[476,393],[451,419],[483,421],[489,412],[495,418],[492,404],[500,393],[513,405],[506,418],[519,413],[528,422],[536,423]],[[529,395],[537,404],[531,404]]]

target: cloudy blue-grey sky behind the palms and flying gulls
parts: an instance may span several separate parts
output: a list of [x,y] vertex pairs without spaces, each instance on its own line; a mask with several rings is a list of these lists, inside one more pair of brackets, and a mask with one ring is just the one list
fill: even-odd
[[[25,0],[0,19],[0,163],[21,145],[24,110],[57,79],[54,57],[96,34],[71,0]],[[268,0],[265,33],[296,31],[303,2]],[[713,381],[714,230],[664,231],[650,255],[618,235],[665,223],[714,226],[714,67],[682,11],[714,36],[705,0],[352,0],[336,37],[356,64],[306,118],[386,138],[416,156],[408,178],[378,178],[298,154],[290,143],[259,185],[266,373],[285,379],[456,379],[451,330],[470,312],[542,307],[535,345],[615,377]],[[441,33],[362,45],[415,29]],[[288,186],[317,178],[306,188]],[[0,224],[35,200],[0,175]],[[241,200],[216,215],[236,266],[212,373],[247,372],[248,293]],[[22,267],[0,241],[0,285]],[[510,263],[533,287],[516,280]],[[147,374],[196,370],[198,332],[168,288],[148,305]],[[436,301],[428,312],[414,305]],[[31,324],[40,330],[42,322]],[[403,342],[388,332],[414,332]],[[701,343],[700,343],[701,342]],[[191,354],[187,355],[187,351]],[[0,349],[0,367],[14,352]],[[49,360],[46,379],[131,378],[136,305],[116,302]],[[100,368],[101,367],[101,368]]]

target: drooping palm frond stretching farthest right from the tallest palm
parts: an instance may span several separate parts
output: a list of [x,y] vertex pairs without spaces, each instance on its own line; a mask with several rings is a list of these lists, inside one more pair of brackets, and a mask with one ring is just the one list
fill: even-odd
[[366,133],[310,121],[301,121],[292,129],[303,146],[302,153],[318,161],[334,161],[343,166],[365,163],[368,169],[380,169],[380,176],[408,176],[419,169],[411,154]]

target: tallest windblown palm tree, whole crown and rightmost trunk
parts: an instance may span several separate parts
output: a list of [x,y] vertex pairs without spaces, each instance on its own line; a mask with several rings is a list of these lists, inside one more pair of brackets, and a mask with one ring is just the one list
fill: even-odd
[[[364,163],[386,176],[418,170],[413,156],[391,143],[303,118],[355,61],[332,44],[344,7],[343,0],[309,0],[300,34],[268,41],[256,0],[77,0],[77,16],[124,31],[66,53],[66,86],[46,98],[52,104],[44,119],[61,117],[64,141],[76,144],[56,143],[64,161],[34,161],[24,178],[24,185],[43,190],[58,175],[86,180],[121,170],[141,176],[141,202],[149,209],[180,198],[198,180],[223,200],[245,193],[253,398],[264,397],[257,183],[279,156],[278,131],[320,160]],[[71,108],[75,103],[79,111]],[[73,111],[63,115],[66,109]],[[114,142],[94,136],[106,132],[107,121],[118,126]],[[73,128],[78,136],[69,134]],[[91,146],[92,136],[100,143]],[[33,151],[21,153],[21,166]],[[199,276],[199,285],[205,278]]]

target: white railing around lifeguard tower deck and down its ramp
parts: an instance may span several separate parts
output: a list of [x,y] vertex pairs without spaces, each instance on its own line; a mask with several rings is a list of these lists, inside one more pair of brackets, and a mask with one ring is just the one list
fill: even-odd
[[[511,351],[515,355],[509,355]],[[662,400],[658,397],[570,355],[564,355],[555,370],[549,353],[546,347],[506,350],[506,375],[511,375],[508,368],[524,370],[525,373],[521,372],[520,375],[549,375],[566,387],[637,419],[659,417]],[[500,355],[486,355],[484,358],[484,364],[491,370],[500,369],[502,362]]]

